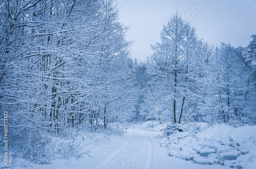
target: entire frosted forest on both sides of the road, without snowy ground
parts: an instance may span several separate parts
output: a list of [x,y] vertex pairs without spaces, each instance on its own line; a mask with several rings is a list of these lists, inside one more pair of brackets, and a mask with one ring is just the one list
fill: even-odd
[[139,62],[118,17],[113,0],[0,2],[1,151],[6,111],[14,158],[35,163],[53,138],[116,122],[256,125],[256,35],[215,46],[177,12]]

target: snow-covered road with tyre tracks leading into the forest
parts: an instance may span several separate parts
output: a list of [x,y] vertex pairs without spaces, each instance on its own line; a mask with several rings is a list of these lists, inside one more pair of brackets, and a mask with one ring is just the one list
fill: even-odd
[[[139,125],[130,127],[121,139],[101,148],[101,152],[83,168],[170,169],[170,168],[226,168],[222,165],[200,165],[193,161],[168,156],[161,147],[156,131],[146,131]],[[100,150],[98,150],[100,151]],[[82,168],[82,167],[81,167]]]

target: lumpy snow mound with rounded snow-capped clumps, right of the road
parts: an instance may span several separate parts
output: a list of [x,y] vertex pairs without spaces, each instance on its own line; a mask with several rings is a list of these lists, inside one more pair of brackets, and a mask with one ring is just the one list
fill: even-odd
[[[163,131],[170,131],[170,128],[167,127]],[[189,129],[179,134],[172,132],[169,133],[167,144],[169,156],[193,160],[198,164],[245,168],[254,162],[256,157],[254,131],[256,126],[234,128],[220,124],[198,133]]]

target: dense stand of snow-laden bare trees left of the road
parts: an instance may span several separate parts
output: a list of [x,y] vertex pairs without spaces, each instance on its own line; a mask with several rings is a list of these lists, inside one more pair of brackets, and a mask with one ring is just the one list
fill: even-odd
[[45,133],[130,118],[131,42],[112,0],[2,1],[0,14],[0,119],[9,112],[13,146],[32,154]]

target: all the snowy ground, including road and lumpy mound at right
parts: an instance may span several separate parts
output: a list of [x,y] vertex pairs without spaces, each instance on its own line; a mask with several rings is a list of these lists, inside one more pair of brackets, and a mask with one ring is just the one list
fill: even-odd
[[28,168],[256,168],[256,126],[193,123],[168,136],[164,128],[154,122],[131,125],[122,136],[87,145],[90,153],[82,158]]

